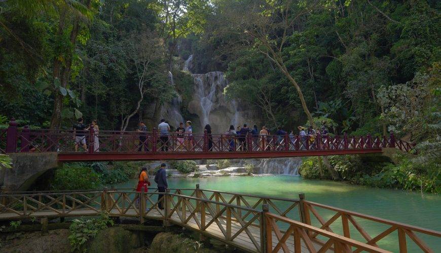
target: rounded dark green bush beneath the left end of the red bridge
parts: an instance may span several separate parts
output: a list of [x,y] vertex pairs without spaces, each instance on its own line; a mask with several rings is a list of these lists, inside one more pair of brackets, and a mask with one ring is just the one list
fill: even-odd
[[85,164],[64,163],[55,170],[51,188],[54,190],[97,189],[102,185],[100,175]]

